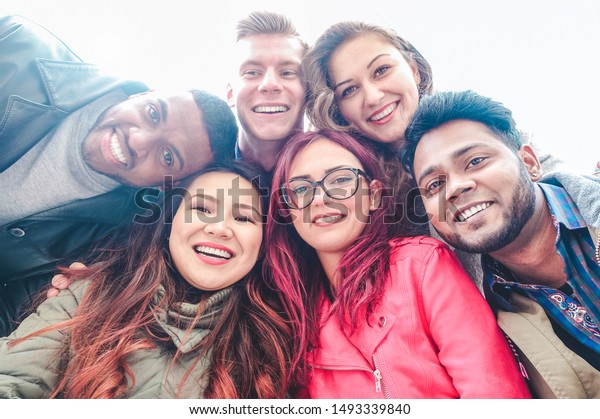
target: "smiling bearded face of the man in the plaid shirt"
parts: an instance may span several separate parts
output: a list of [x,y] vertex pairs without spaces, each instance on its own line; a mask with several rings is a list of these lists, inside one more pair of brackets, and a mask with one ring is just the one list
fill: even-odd
[[526,152],[519,153],[474,121],[447,122],[423,135],[414,174],[427,191],[423,202],[430,221],[444,240],[469,252],[491,253],[519,235],[536,201],[522,160]]

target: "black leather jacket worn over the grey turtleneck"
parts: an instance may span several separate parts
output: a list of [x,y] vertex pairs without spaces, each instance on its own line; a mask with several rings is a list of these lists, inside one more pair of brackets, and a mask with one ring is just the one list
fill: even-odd
[[[117,88],[128,94],[148,90],[101,74],[27,19],[1,17],[0,172],[67,115]],[[14,328],[18,306],[49,281],[57,262],[78,259],[92,243],[132,221],[134,193],[120,187],[0,227],[0,336]]]

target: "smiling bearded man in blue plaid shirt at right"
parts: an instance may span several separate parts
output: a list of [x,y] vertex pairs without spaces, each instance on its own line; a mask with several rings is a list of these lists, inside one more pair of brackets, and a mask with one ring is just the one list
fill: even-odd
[[510,110],[471,91],[423,99],[406,140],[435,230],[483,254],[486,298],[534,394],[600,397],[600,179],[542,178]]

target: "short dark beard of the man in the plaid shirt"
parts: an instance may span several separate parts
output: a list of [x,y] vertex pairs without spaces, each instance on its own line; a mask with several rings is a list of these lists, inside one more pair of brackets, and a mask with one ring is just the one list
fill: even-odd
[[470,253],[491,253],[512,243],[521,233],[535,210],[535,186],[523,165],[519,169],[511,204],[502,213],[502,224],[496,231],[478,241],[469,240],[468,235],[440,234],[451,246]]

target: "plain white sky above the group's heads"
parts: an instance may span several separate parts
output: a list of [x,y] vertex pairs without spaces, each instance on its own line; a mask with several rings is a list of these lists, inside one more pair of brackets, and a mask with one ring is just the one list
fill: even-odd
[[235,22],[288,15],[312,43],[340,20],[395,29],[428,59],[438,90],[473,89],[513,110],[521,129],[570,170],[600,160],[597,0],[2,0],[82,59],[154,87],[224,96]]

